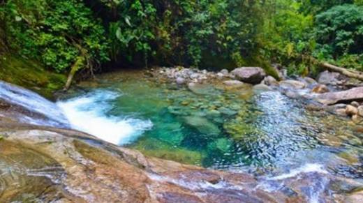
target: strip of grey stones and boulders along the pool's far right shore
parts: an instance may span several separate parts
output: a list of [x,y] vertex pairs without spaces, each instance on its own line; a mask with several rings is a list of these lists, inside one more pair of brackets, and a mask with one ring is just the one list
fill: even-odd
[[228,87],[254,85],[254,89],[274,89],[290,98],[304,99],[316,110],[350,116],[356,123],[363,121],[363,82],[327,70],[320,73],[317,80],[311,77],[297,77],[294,80],[288,78],[286,71],[280,70],[279,81],[266,75],[259,67],[236,68],[231,72],[223,69],[218,73],[183,67],[156,68],[151,73],[161,81],[186,84],[191,91],[198,84],[218,82]]

